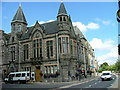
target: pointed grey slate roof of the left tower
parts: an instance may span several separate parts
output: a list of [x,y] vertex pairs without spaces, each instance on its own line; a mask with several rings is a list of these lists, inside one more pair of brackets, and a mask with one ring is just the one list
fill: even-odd
[[12,22],[16,22],[16,21],[23,22],[23,23],[27,24],[27,21],[26,21],[26,18],[25,18],[25,15],[23,13],[21,6],[19,6],[19,8],[18,8],[13,20],[12,20]]

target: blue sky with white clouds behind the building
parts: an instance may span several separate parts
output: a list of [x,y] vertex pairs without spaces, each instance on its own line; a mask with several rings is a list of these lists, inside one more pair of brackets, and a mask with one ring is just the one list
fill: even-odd
[[[117,60],[118,23],[117,2],[64,2],[73,25],[84,33],[95,49],[99,64]],[[22,2],[28,26],[56,20],[60,2]],[[18,2],[2,3],[2,29],[11,32],[11,21],[19,7]]]

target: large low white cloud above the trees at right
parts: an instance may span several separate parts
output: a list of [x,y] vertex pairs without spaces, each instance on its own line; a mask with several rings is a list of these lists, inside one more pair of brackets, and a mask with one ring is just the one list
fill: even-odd
[[93,40],[90,42],[91,46],[95,49],[95,52],[101,53],[101,52],[108,52],[104,55],[98,56],[98,64],[102,64],[104,62],[107,62],[109,65],[114,64],[116,60],[118,59],[118,48],[117,45],[114,45],[114,41],[109,39],[106,41],[102,41],[98,38],[93,38]]

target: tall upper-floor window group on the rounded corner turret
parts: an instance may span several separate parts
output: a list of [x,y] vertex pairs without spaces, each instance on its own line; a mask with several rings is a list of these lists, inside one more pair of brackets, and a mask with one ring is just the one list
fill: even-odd
[[58,39],[59,53],[68,53],[68,37],[61,37]]

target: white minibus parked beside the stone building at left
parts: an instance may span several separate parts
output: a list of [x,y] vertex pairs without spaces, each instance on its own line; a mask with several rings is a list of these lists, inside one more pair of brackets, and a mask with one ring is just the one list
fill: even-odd
[[24,71],[24,72],[11,72],[8,75],[8,78],[5,78],[6,83],[13,83],[13,82],[18,82],[18,83],[26,83],[28,81],[35,81],[35,72],[31,72],[31,78],[30,78],[30,72],[29,71]]

